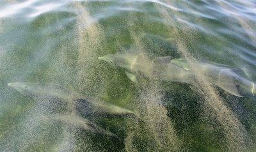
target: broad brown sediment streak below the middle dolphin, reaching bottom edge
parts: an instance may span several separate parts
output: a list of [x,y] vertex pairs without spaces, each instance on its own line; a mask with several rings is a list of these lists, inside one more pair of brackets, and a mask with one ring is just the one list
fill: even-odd
[[[145,55],[145,49],[143,48],[143,42],[141,36],[143,33],[136,33],[136,17],[130,15],[128,27],[132,42],[137,52]],[[145,65],[148,66],[148,65]],[[147,141],[145,151],[177,151],[179,148],[179,141],[172,121],[167,116],[166,108],[161,104],[161,87],[157,82],[150,81],[148,85],[141,85],[141,92],[138,96],[138,107],[140,109],[141,118],[143,119],[143,125],[141,122],[136,121],[129,123],[127,130],[127,138],[125,139],[125,148],[127,151],[140,151],[136,148],[139,143],[134,143],[134,139],[141,139]],[[132,124],[131,124],[132,123]],[[147,131],[146,131],[147,130]],[[138,144],[138,145],[137,145]]]

